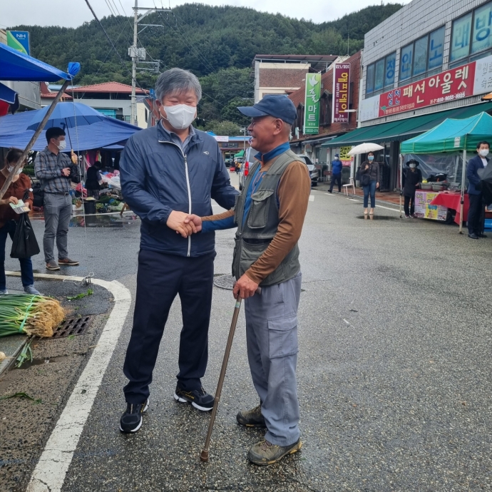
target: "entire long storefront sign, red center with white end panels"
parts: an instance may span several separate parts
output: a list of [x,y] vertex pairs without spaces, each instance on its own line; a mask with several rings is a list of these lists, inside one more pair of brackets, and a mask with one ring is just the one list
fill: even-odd
[[361,121],[414,111],[492,91],[492,56],[364,99]]

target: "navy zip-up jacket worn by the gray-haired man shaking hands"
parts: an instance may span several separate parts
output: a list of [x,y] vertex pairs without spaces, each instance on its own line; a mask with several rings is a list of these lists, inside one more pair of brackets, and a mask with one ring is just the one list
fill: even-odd
[[195,129],[185,155],[158,123],[128,139],[120,173],[123,198],[142,220],[141,249],[190,257],[215,250],[214,232],[185,239],[166,225],[173,210],[212,215],[211,198],[226,210],[234,207],[238,192],[215,138]]

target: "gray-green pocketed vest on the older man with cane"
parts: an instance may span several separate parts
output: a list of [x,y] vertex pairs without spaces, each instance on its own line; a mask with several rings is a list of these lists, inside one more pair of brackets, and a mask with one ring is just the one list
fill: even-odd
[[[250,169],[245,187],[237,197],[235,206],[235,222],[237,232],[235,237],[234,260],[232,260],[232,275],[239,279],[250,266],[267,249],[270,241],[277,233],[279,225],[279,207],[277,202],[277,188],[282,174],[290,163],[299,160],[292,150],[280,154],[270,169],[263,176],[258,189],[251,195],[250,211],[244,217],[247,190],[260,163]],[[300,270],[299,247],[297,244],[290,250],[280,265],[260,285],[280,284],[297,275]]]

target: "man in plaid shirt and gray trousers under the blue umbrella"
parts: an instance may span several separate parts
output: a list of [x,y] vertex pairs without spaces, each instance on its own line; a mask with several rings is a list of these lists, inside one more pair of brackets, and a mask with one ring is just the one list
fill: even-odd
[[[73,164],[68,155],[61,152],[66,148],[65,132],[61,128],[48,128],[46,141],[48,145],[34,160],[34,172],[44,191],[43,250],[46,268],[60,270],[59,265],[78,265],[77,261],[68,257],[67,249],[68,225],[72,215],[70,170]],[[55,237],[58,263],[53,251]]]

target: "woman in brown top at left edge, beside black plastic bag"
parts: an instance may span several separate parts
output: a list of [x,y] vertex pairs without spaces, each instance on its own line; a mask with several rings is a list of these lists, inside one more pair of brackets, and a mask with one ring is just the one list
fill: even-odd
[[[22,155],[22,150],[19,148],[11,148],[6,155],[4,168],[0,170],[0,188],[6,182],[14,165],[19,161]],[[17,171],[11,185],[7,188],[4,197],[0,200],[0,294],[8,294],[6,289],[5,277],[5,245],[7,236],[14,239],[16,225],[21,218],[21,214],[14,212],[10,206],[11,203],[16,205],[19,200],[24,198],[26,190],[31,190],[31,179],[28,175],[22,173],[22,168]],[[29,191],[29,200],[24,203],[31,209],[33,202],[33,194]],[[39,292],[34,288],[33,265],[31,258],[20,258],[21,264],[21,280],[24,286],[24,292],[33,295],[39,295]]]

